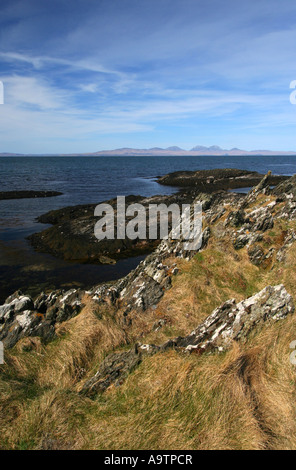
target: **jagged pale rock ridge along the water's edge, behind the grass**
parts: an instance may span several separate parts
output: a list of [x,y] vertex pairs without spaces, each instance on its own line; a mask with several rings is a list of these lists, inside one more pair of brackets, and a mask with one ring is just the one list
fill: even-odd
[[[270,181],[272,178],[268,174],[247,195],[227,192],[215,192],[211,195],[199,193],[194,200],[203,204],[204,229],[198,251],[206,249],[212,237],[219,239],[227,235],[237,252],[246,249],[249,261],[262,269],[271,269],[274,263],[282,262],[287,249],[296,240],[296,234],[293,230],[284,231],[280,246],[275,248],[266,233],[273,228],[276,219],[296,219],[296,180],[295,176],[289,178],[273,190],[270,189]],[[71,210],[76,212],[77,208],[62,209],[59,214],[71,220]],[[89,207],[86,209],[84,206],[79,210],[83,214],[86,210],[91,211]],[[57,211],[50,213],[46,216],[47,220],[59,223],[59,214]],[[101,284],[87,292],[70,289],[41,293],[35,299],[18,291],[0,306],[0,340],[8,348],[27,336],[39,336],[46,342],[50,341],[55,337],[57,325],[80,313],[85,296],[98,305],[113,305],[120,312],[122,324],[128,326],[132,312],[139,314],[155,308],[165,291],[170,289],[172,277],[178,273],[176,260],[189,260],[195,254],[196,251],[184,251],[182,241],[169,237],[162,240],[135,270],[114,283]],[[276,295],[276,292],[283,290],[279,289],[272,295]],[[227,309],[234,308],[233,305],[231,301]],[[215,313],[214,317],[217,315]],[[277,318],[276,315],[274,313],[274,318]],[[257,320],[255,323],[257,324]],[[209,338],[208,334],[205,336],[203,333],[203,341],[206,337]],[[183,339],[177,343],[175,341],[174,344],[182,347],[186,345],[187,349],[190,344],[192,347],[199,344],[190,341]]]

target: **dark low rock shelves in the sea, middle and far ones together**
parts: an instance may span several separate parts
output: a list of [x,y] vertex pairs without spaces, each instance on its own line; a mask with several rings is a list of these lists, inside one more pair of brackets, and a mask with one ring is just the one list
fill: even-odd
[[[178,193],[171,196],[128,196],[126,205],[140,203],[146,208],[148,217],[149,204],[191,204],[198,194],[205,199],[204,194],[214,194],[221,191],[221,197],[227,198],[227,190],[249,187],[258,184],[264,175],[236,169],[202,170],[197,172],[177,172],[158,178],[160,184],[180,187]],[[276,185],[288,177],[269,177],[269,184]],[[239,198],[239,196],[231,196]],[[104,201],[115,211],[116,199]],[[206,204],[206,202],[204,202]],[[95,204],[66,207],[50,211],[40,216],[40,223],[53,226],[28,237],[36,251],[49,253],[67,261],[82,263],[114,264],[122,258],[129,258],[151,253],[160,243],[160,239],[151,240],[100,240],[94,236]],[[128,220],[127,220],[128,221]],[[116,227],[115,227],[116,230]]]

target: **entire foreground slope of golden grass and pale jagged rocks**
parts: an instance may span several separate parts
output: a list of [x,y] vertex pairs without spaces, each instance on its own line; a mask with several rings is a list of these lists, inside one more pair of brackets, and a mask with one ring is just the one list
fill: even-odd
[[186,447],[208,448],[221,421],[223,439],[238,423],[238,443],[216,448],[291,448],[296,176],[270,181],[248,194],[194,194],[203,207],[194,251],[170,235],[119,280],[10,295],[0,305],[2,446],[113,448],[120,426],[118,448],[147,427],[150,448],[173,417],[171,448],[186,426]]

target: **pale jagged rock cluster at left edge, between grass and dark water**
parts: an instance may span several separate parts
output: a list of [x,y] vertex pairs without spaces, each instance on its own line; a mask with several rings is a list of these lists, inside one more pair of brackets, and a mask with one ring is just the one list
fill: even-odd
[[34,302],[30,296],[15,292],[0,306],[0,340],[6,349],[28,336],[50,341],[57,323],[81,311],[83,294],[79,289],[42,293]]

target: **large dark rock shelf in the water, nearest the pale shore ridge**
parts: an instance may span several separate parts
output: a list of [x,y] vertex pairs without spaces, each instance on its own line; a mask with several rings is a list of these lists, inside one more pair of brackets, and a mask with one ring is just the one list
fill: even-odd
[[[126,205],[132,203],[141,203],[145,209],[148,220],[148,210],[150,204],[177,203],[179,207],[182,204],[192,202],[192,195],[173,195],[173,196],[153,196],[142,198],[141,196],[128,196],[125,199]],[[66,207],[56,211],[48,212],[38,218],[39,222],[54,224],[40,233],[30,235],[28,239],[37,251],[50,253],[65,260],[80,261],[88,263],[114,264],[116,260],[148,254],[153,251],[160,243],[158,220],[158,238],[149,239],[147,233],[146,239],[136,238],[131,240],[117,239],[117,200],[105,201],[114,209],[115,236],[114,239],[98,240],[95,237],[94,230],[98,218],[94,215],[96,204]],[[131,220],[126,218],[126,222]],[[171,218],[169,217],[169,229],[171,227]],[[148,231],[148,229],[147,229]]]

